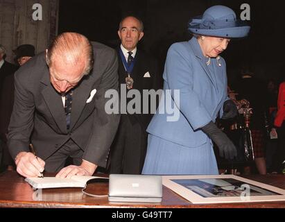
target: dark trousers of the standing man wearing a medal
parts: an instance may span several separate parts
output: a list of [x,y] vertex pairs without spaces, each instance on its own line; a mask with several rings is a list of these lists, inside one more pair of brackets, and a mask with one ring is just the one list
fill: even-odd
[[141,174],[146,146],[146,130],[138,122],[131,123],[127,115],[122,115],[111,146],[110,173]]

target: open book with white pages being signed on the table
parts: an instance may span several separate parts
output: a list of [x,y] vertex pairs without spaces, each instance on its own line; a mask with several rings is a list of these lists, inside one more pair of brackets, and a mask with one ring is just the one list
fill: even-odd
[[72,176],[71,178],[44,177],[44,178],[26,178],[25,181],[28,182],[35,189],[59,188],[59,187],[84,188],[89,180],[95,178],[103,178],[103,177],[98,177],[98,176]]

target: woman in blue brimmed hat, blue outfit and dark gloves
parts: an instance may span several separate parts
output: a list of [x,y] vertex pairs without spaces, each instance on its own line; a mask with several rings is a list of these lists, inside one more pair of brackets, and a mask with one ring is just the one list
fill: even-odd
[[[221,156],[236,156],[234,144],[214,124],[216,117],[236,114],[227,97],[225,60],[219,54],[230,39],[248,35],[250,26],[237,20],[232,9],[212,6],[202,17],[191,19],[189,31],[191,40],[173,44],[167,53],[165,96],[159,103],[159,112],[166,112],[155,114],[148,126],[143,174],[218,174],[213,142]],[[167,112],[173,106],[179,114],[174,121]]]

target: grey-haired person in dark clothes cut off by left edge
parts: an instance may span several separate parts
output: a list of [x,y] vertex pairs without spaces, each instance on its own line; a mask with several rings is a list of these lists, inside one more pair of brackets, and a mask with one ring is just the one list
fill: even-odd
[[[12,164],[6,146],[6,133],[10,120],[9,113],[12,112],[10,101],[12,100],[13,87],[10,85],[10,82],[17,70],[15,65],[4,60],[5,53],[5,48],[0,44],[0,153],[2,153],[2,155],[0,155],[0,166],[3,168]],[[8,103],[6,103],[6,101],[8,101]]]

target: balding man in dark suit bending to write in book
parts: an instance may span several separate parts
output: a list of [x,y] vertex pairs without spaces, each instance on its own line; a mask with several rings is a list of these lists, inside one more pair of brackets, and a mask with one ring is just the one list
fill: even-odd
[[[119,114],[105,112],[118,88],[116,52],[78,33],[62,33],[15,73],[8,148],[22,176],[90,176],[105,167]],[[29,151],[33,144],[34,153]],[[74,165],[64,167],[67,157]]]

